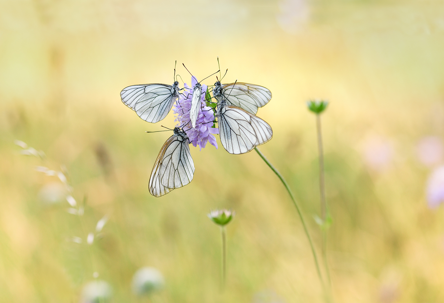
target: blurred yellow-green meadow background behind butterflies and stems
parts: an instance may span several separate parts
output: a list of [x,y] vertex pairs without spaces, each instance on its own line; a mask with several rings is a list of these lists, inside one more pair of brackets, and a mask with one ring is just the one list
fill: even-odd
[[[330,102],[334,302],[444,302],[444,213],[425,194],[442,159],[425,165],[417,152],[424,136],[444,136],[443,12],[433,0],[0,0],[0,301],[79,302],[94,272],[110,302],[324,301],[297,213],[255,152],[190,146],[193,181],[161,198],[148,192],[170,134],[145,131],[173,127],[174,116],[149,124],[119,92],[172,84],[175,60],[190,84],[182,63],[203,79],[219,56],[225,83],[273,93],[258,116],[274,137],[260,149],[294,191],[319,257],[316,124],[305,101]],[[46,157],[21,155],[14,140]],[[66,200],[45,202],[60,181],[36,166],[66,167],[85,200],[80,220]],[[220,231],[206,216],[222,207],[236,211],[225,291]],[[144,266],[165,287],[137,297],[131,280]]]

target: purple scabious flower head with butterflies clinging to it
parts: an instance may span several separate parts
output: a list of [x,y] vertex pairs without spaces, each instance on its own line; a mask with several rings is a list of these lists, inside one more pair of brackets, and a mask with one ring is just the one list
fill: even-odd
[[185,83],[185,89],[182,94],[179,95],[179,99],[174,105],[173,112],[176,114],[175,121],[178,122],[177,127],[183,128],[183,131],[186,133],[186,136],[190,138],[190,143],[192,143],[194,147],[199,145],[200,149],[202,150],[202,148],[205,148],[206,143],[210,142],[211,145],[218,148],[216,138],[213,135],[218,134],[219,129],[212,127],[214,121],[214,111],[209,106],[206,106],[205,92],[207,86],[205,84],[202,84],[202,110],[199,110],[196,120],[196,127],[192,128],[191,126],[191,100],[193,99],[193,88],[196,84],[197,80],[194,77],[191,78],[191,87]]

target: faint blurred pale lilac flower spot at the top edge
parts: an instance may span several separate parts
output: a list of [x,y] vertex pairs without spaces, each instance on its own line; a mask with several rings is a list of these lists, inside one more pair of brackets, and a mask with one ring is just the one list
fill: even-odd
[[279,3],[277,24],[289,34],[301,32],[310,18],[310,9],[306,0],[283,0]]

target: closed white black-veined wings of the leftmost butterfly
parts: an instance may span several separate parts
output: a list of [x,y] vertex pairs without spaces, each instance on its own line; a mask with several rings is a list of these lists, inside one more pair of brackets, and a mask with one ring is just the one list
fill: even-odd
[[178,88],[167,84],[140,84],[123,88],[122,102],[143,120],[156,123],[166,117],[178,97]]

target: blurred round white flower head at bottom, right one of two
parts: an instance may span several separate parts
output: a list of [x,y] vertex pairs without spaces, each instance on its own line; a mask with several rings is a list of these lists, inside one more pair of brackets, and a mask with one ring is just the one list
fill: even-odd
[[137,295],[150,294],[164,284],[163,275],[154,267],[142,267],[133,276],[133,291]]

